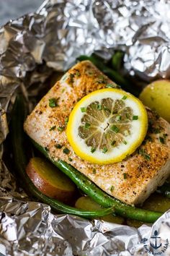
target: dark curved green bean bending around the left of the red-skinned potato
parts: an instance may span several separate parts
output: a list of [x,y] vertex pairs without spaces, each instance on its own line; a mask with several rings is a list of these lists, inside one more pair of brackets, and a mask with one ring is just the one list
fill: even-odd
[[47,203],[53,210],[60,213],[73,214],[75,216],[81,216],[84,218],[97,218],[112,213],[114,211],[113,208],[95,211],[79,210],[77,208],[73,208],[71,206],[63,204],[58,200],[43,195],[35,187],[25,171],[25,168],[27,166],[27,157],[25,152],[26,147],[24,145],[26,137],[23,131],[23,121],[25,115],[26,114],[24,108],[24,101],[22,96],[19,96],[14,103],[14,108],[12,111],[10,134],[12,139],[14,164],[17,171],[17,179],[19,179],[23,189],[27,192],[27,194],[35,196],[38,200]]

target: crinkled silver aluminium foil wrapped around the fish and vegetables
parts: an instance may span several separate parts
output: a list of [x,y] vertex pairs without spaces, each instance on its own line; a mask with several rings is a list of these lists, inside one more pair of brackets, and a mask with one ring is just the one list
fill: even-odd
[[[130,74],[169,77],[169,15],[169,0],[50,0],[1,27],[1,158],[17,92],[31,109],[53,70],[65,71],[81,54],[109,59],[122,49]],[[53,215],[28,200],[2,160],[0,178],[0,255],[170,255],[170,211],[139,229]]]

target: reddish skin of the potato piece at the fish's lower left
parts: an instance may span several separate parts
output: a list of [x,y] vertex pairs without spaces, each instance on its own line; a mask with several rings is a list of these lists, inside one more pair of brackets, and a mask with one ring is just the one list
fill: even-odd
[[71,205],[73,202],[76,189],[72,191],[66,191],[58,187],[54,187],[50,184],[47,180],[42,179],[42,177],[37,173],[35,167],[33,166],[32,162],[28,163],[26,168],[27,175],[32,180],[35,187],[37,187],[42,194],[47,195],[48,197],[53,197],[61,202],[68,203]]

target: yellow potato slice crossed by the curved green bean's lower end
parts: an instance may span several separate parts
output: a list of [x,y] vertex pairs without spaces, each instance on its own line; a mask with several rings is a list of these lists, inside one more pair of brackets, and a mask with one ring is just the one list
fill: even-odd
[[[102,206],[98,205],[97,202],[94,202],[90,197],[79,197],[78,200],[76,200],[75,204],[76,208],[83,209],[83,210],[101,210]],[[99,218],[103,221],[111,222],[111,223],[117,223],[122,224],[124,222],[124,219],[120,216],[113,216],[112,214],[109,214],[107,216],[102,216]]]

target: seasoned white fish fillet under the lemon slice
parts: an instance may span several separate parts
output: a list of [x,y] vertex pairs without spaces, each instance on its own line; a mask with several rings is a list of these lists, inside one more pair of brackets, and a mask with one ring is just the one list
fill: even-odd
[[[116,87],[90,61],[76,64],[37,104],[27,117],[24,130],[46,148],[55,161],[62,159],[70,163],[109,195],[135,205],[146,200],[169,176],[170,124],[147,108],[148,133],[135,153],[120,163],[107,165],[82,160],[68,143],[66,122],[79,99],[107,84]],[[57,106],[49,106],[51,98],[55,98]]]

